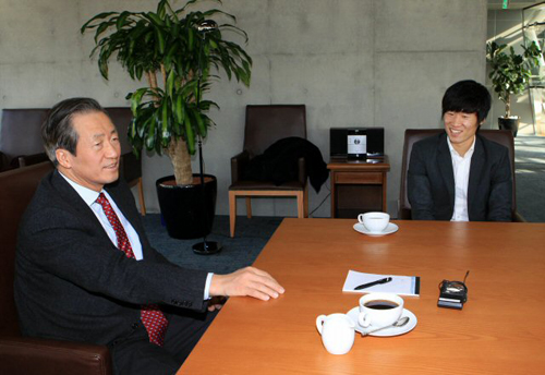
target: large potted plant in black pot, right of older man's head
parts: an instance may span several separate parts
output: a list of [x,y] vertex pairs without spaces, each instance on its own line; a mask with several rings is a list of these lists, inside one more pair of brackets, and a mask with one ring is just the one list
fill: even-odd
[[[147,86],[128,95],[134,117],[129,140],[137,156],[145,148],[170,157],[174,174],[157,181],[159,204],[169,234],[185,239],[206,235],[215,211],[216,178],[206,176],[203,188],[191,168],[195,145],[215,124],[208,110],[219,108],[204,100],[203,93],[213,80],[219,80],[215,74],[219,70],[229,80],[234,76],[249,86],[252,66],[242,47],[223,38],[222,33],[230,31],[247,41],[246,33],[233,25],[235,17],[218,9],[187,11],[198,1],[186,1],[175,10],[168,0],[160,0],[156,12],[100,13],[81,28],[82,34],[95,29],[96,46],[90,56],[98,55],[98,68],[106,80],[113,57],[132,80],[147,78]],[[218,26],[214,17],[228,22]],[[207,195],[206,213],[201,189]]]

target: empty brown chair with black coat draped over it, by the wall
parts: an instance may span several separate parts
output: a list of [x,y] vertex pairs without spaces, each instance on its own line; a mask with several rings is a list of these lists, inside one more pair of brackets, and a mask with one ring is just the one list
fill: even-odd
[[306,138],[306,107],[304,105],[246,106],[243,152],[231,158],[229,186],[229,219],[234,237],[237,197],[246,197],[246,216],[252,217],[252,196],[294,196],[298,217],[308,216],[308,185],[304,159],[299,159],[299,179],[276,185],[271,181],[244,181],[242,176],[249,161],[262,155],[275,142],[289,136]]

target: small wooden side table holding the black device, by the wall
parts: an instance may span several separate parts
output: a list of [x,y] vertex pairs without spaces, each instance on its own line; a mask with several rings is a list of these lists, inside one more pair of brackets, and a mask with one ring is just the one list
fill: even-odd
[[388,157],[352,160],[331,158],[331,217],[356,218],[368,211],[386,213]]

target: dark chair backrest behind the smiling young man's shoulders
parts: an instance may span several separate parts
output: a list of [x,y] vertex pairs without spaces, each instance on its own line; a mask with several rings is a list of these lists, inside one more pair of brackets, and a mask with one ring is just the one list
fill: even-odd
[[[401,186],[399,189],[399,209],[398,209],[398,219],[410,220],[411,219],[411,204],[409,203],[409,197],[407,194],[407,172],[409,170],[409,161],[411,159],[412,146],[414,143],[444,132],[444,129],[407,129],[405,130],[405,138],[403,144],[403,154],[402,154],[402,165],[401,165]],[[504,145],[509,150],[509,158],[511,161],[511,178],[512,178],[512,215],[514,217],[514,213],[517,210],[517,201],[516,201],[516,183],[514,183],[514,141],[512,136],[512,132],[509,130],[491,130],[491,129],[481,129],[479,134],[484,136],[487,140],[494,141]]]

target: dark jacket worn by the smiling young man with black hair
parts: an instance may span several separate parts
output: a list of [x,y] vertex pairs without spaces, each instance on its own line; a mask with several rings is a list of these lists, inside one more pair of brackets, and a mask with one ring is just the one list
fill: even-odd
[[[408,172],[408,195],[415,220],[450,220],[455,172],[441,133],[416,142]],[[476,134],[468,184],[470,221],[511,221],[512,181],[509,152]]]

